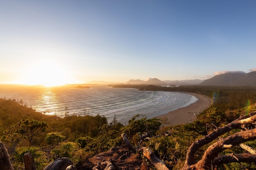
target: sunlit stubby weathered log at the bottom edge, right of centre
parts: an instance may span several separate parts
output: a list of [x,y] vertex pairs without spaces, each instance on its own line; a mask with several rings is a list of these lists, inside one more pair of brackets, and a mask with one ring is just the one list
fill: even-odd
[[169,170],[164,164],[164,161],[158,159],[150,149],[143,147],[142,150],[143,155],[148,158],[148,160],[155,166],[155,168],[157,168],[157,170]]

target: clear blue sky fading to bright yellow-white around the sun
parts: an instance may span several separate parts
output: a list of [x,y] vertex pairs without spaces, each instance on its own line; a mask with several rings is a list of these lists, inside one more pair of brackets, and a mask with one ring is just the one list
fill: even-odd
[[256,71],[255,0],[0,0],[0,84]]

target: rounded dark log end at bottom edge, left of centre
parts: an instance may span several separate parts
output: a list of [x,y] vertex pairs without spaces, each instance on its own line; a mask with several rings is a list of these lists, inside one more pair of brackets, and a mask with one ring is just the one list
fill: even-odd
[[43,170],[66,170],[70,165],[73,165],[72,161],[68,158],[60,158],[50,163]]

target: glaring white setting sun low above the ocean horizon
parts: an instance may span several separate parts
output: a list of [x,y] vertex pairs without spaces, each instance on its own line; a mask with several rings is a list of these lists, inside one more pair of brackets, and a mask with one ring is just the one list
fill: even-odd
[[28,85],[61,86],[70,79],[67,69],[53,61],[34,63],[27,72],[25,84]]

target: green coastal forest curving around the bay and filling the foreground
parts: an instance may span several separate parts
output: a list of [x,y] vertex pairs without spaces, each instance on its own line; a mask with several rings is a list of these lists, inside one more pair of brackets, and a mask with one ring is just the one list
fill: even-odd
[[213,104],[188,124],[168,126],[165,119],[137,115],[123,126],[100,115],[44,115],[22,99],[3,98],[0,141],[13,169],[28,170],[24,155],[30,153],[37,170],[63,157],[77,170],[256,170],[251,153],[256,148],[255,87],[116,87],[198,93],[211,97]]

